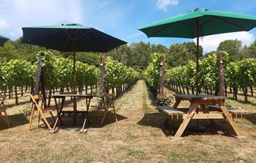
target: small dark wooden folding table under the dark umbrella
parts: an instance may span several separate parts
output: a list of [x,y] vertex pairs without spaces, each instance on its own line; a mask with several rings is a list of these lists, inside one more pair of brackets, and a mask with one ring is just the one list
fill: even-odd
[[[88,121],[89,124],[89,108],[90,108],[90,102],[91,99],[93,99],[96,95],[93,94],[58,94],[58,95],[52,95],[52,98],[55,99],[55,105],[57,108],[57,119],[55,121],[53,130],[55,130],[58,121],[60,121],[61,126],[63,125],[63,122],[61,120],[62,117],[73,117],[73,125],[76,126],[76,118],[77,117],[85,117],[84,123],[82,125],[82,129],[80,131],[83,131],[85,129],[85,124]],[[73,98],[73,111],[63,111],[64,108],[64,102],[66,97],[72,97]],[[77,106],[76,106],[76,100],[78,98],[85,98],[86,102],[86,110],[83,111],[77,111]],[[57,99],[62,99],[61,100],[61,106],[59,107]]]

